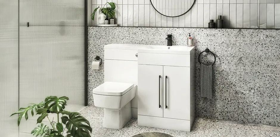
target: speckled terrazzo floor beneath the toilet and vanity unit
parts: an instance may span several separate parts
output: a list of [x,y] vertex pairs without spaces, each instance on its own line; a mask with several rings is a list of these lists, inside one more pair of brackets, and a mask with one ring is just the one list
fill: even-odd
[[196,118],[191,132],[138,126],[137,119],[130,119],[122,129],[115,130],[102,127],[103,108],[87,106],[80,113],[90,122],[92,137],[131,137],[143,132],[161,132],[174,137],[280,137],[280,127],[205,118]]

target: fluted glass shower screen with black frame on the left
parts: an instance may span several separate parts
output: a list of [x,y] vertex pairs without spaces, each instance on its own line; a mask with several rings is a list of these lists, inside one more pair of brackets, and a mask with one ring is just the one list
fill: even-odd
[[0,129],[31,137],[37,117],[18,128],[9,117],[18,108],[46,96],[68,96],[69,111],[86,105],[85,0],[0,0],[0,7],[0,109],[9,110]]

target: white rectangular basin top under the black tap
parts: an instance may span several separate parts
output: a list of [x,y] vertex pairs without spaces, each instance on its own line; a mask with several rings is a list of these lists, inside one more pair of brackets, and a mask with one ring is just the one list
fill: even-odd
[[145,46],[143,49],[138,49],[138,52],[190,55],[190,51],[193,48],[194,47],[189,47],[189,46],[149,45],[149,46]]

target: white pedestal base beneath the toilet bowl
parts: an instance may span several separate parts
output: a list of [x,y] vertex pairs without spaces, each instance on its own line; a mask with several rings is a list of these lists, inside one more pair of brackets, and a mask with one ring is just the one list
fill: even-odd
[[121,109],[104,108],[103,127],[122,129],[131,118],[131,101]]

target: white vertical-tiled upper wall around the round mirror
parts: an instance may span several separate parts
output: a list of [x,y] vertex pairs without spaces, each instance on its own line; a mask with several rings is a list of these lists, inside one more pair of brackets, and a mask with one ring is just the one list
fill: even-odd
[[[92,9],[112,0],[92,0]],[[225,28],[280,28],[279,0],[196,0],[183,16],[166,17],[149,0],[113,0],[118,26],[129,27],[208,27],[223,15]],[[166,4],[155,7],[164,8]],[[176,5],[175,5],[176,6]],[[179,5],[178,5],[179,6]],[[92,26],[98,22],[92,21]]]

